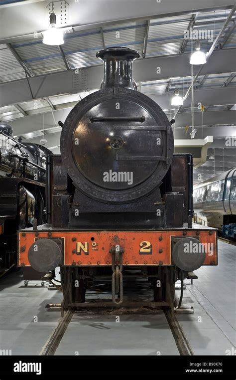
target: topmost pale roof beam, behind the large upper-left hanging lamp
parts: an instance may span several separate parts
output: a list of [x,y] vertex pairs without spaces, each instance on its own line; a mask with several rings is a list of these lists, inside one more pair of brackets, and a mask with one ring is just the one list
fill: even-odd
[[[92,0],[91,0],[92,1]],[[158,19],[176,15],[192,14],[193,11],[212,11],[231,8],[228,0],[165,0],[156,3],[153,0],[133,1],[117,0],[110,4],[111,0],[93,1],[89,11],[87,1],[70,2],[70,25],[77,30],[88,30],[101,26],[110,26],[120,22],[143,22],[146,19]],[[26,5],[12,8],[4,8],[4,17],[1,19],[1,43],[16,42],[33,37],[46,30],[45,1],[27,4],[27,22],[22,22],[19,14],[24,14]],[[125,9],[125,12],[124,12]],[[36,16],[35,16],[36,15]],[[114,19],[115,18],[115,19]],[[86,20],[86,24],[84,23]],[[9,28],[9,25],[11,27]],[[19,30],[22,35],[19,36]],[[10,35],[9,35],[10,33]]]

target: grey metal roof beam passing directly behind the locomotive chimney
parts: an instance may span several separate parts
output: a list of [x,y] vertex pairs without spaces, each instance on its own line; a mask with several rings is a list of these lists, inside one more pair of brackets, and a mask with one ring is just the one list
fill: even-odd
[[[202,69],[202,75],[232,72],[235,70],[236,49],[216,50],[212,54],[210,64]],[[191,75],[190,54],[176,56],[151,57],[137,59],[133,63],[133,77],[137,83],[171,79],[173,76]],[[156,66],[161,73],[156,73]],[[222,65],[224,62],[224,65]],[[196,73],[196,68],[194,68]],[[88,78],[83,80],[83,74]],[[81,68],[78,74],[74,70],[40,75],[28,78],[35,99],[48,98],[54,95],[75,94],[84,90],[100,88],[103,79],[103,65]],[[143,85],[144,88],[144,85]],[[2,94],[2,95],[1,95]],[[4,94],[4,96],[3,96]],[[26,79],[0,84],[0,107],[31,100],[32,96]],[[226,104],[231,104],[230,103]],[[172,108],[172,107],[171,107]]]

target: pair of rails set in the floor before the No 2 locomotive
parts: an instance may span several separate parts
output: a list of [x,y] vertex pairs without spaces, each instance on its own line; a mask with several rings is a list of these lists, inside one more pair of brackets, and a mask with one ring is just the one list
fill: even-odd
[[[136,305],[138,307],[138,302],[136,303]],[[141,313],[140,309],[139,311]],[[57,349],[59,348],[59,345],[62,344],[61,340],[66,334],[66,331],[70,325],[70,322],[72,321],[74,313],[75,313],[74,310],[68,310],[67,312],[64,313],[64,317],[60,318],[57,327],[55,328],[53,333],[50,335],[48,341],[43,347],[40,353],[41,356],[55,355]],[[177,350],[179,352],[179,355],[183,355],[183,356],[194,355],[191,349],[191,346],[188,342],[188,339],[186,338],[185,333],[181,325],[179,324],[178,320],[176,319],[175,315],[172,314],[170,310],[164,309],[164,308],[162,310],[162,313],[163,313],[163,319],[167,321],[169,329],[172,333],[172,336],[173,336],[172,343],[173,344],[175,343]],[[158,329],[156,329],[156,331],[157,331],[157,336],[158,336]]]

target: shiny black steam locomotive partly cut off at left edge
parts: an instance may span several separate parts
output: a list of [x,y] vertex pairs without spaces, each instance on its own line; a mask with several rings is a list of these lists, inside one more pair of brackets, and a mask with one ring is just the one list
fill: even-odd
[[17,268],[16,231],[36,217],[46,221],[46,158],[40,145],[16,141],[12,128],[0,124],[0,273]]

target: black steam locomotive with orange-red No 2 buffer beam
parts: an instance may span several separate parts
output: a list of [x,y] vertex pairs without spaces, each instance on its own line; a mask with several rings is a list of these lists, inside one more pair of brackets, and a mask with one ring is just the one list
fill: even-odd
[[101,278],[111,304],[124,305],[126,279],[137,277],[153,285],[154,306],[173,310],[176,280],[183,288],[190,272],[217,265],[216,230],[192,223],[192,156],[173,155],[171,123],[137,91],[139,54],[111,47],[97,57],[101,90],[64,122],[61,156],[48,165],[50,221],[18,232],[18,265],[61,267],[62,311],[81,307],[88,281]]

